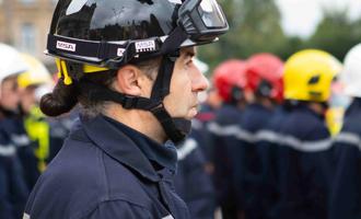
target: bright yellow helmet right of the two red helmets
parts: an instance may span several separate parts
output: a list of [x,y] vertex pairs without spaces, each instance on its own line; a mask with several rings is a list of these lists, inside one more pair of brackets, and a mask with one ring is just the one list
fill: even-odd
[[305,49],[292,55],[284,65],[284,99],[326,102],[341,64],[330,54]]

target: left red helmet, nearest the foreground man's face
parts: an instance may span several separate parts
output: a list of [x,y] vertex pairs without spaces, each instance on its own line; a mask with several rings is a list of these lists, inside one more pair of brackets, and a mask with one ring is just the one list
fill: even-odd
[[234,88],[243,90],[245,87],[245,70],[246,62],[238,59],[226,60],[214,69],[213,84],[224,102],[232,101]]

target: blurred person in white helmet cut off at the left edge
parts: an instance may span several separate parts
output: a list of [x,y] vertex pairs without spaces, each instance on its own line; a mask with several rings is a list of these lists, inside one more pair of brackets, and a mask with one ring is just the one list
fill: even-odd
[[[24,210],[27,183],[32,180],[25,178],[28,175],[18,157],[22,152],[13,141],[16,135],[12,132],[18,128],[14,123],[20,103],[18,76],[27,67],[20,53],[5,44],[0,44],[0,218],[18,219]],[[27,136],[24,138],[26,141]]]

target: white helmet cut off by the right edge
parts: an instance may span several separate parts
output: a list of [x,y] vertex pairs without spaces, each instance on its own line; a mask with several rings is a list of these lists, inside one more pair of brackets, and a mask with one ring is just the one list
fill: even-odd
[[361,44],[347,53],[340,79],[347,95],[361,97]]

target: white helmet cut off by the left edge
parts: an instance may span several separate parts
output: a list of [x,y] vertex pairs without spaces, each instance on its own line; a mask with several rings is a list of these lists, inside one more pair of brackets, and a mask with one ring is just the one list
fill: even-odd
[[20,53],[13,47],[0,43],[0,83],[9,76],[21,73],[26,70]]

